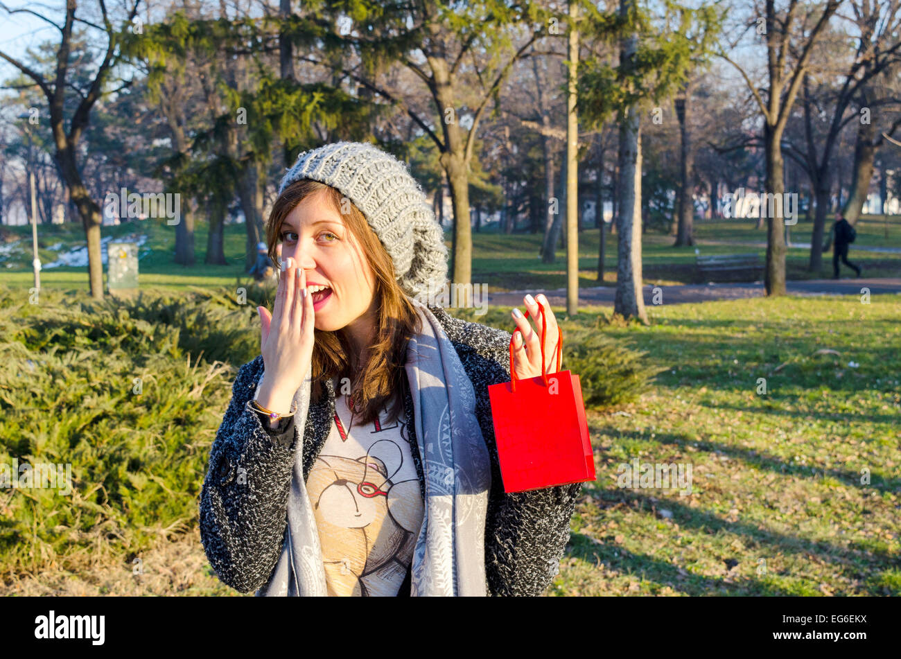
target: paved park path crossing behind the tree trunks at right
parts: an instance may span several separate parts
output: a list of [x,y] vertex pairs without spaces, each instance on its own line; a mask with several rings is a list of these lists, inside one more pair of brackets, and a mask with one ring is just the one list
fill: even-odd
[[[901,293],[901,278],[860,278],[860,279],[806,279],[787,282],[789,295],[860,295],[863,288],[869,293]],[[653,303],[654,286],[645,284],[644,303]],[[749,297],[762,297],[763,284],[685,284],[678,286],[660,286],[664,304],[684,304],[686,302],[709,302],[711,300],[740,300]],[[549,291],[535,289],[532,291],[509,291],[505,293],[487,293],[488,304],[500,306],[522,306],[525,293],[544,293],[553,306],[566,305],[566,289],[557,288]],[[613,306],[616,289],[614,286],[580,288],[579,304],[597,304]]]

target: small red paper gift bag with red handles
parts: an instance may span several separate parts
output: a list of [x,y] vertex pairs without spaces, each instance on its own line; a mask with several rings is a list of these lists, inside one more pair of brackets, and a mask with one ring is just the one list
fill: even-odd
[[[542,310],[542,337],[547,320]],[[529,311],[525,311],[529,317]],[[594,481],[595,458],[588,438],[578,375],[560,371],[563,331],[558,327],[557,373],[517,380],[510,339],[510,382],[488,386],[504,492]]]

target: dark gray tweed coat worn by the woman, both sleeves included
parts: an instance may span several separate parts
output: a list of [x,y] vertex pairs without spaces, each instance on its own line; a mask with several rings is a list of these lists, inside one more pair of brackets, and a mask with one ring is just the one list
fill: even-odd
[[[485,532],[487,592],[494,596],[542,594],[558,573],[560,557],[569,542],[569,519],[581,483],[504,492],[487,387],[510,380],[511,335],[453,318],[440,307],[429,308],[451,339],[473,384],[476,415],[491,456]],[[241,366],[232,386],[232,401],[210,451],[200,495],[200,537],[206,556],[220,580],[241,592],[265,585],[278,561],[285,541],[287,494],[298,446],[296,430],[291,432],[293,438],[280,442],[278,434],[264,429],[259,414],[248,406],[262,371],[262,357]],[[320,402],[310,402],[299,442],[304,451],[305,479],[332,424],[335,391],[331,381],[325,382],[325,391],[327,395]],[[408,387],[404,393],[407,427],[414,428]],[[418,450],[412,453],[424,496],[421,458]]]

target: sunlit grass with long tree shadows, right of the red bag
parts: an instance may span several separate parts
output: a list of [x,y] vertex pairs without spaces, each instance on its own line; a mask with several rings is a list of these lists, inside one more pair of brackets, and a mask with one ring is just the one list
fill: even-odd
[[[901,594],[901,296],[874,301],[672,305],[608,330],[668,370],[589,411],[597,481],[551,594]],[[693,465],[691,494],[617,487],[633,458]]]

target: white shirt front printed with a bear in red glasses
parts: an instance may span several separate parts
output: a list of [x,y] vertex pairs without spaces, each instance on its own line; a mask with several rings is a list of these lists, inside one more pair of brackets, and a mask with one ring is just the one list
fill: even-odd
[[403,420],[345,431],[338,418],[310,470],[330,595],[395,596],[404,581],[423,520],[405,431]]

